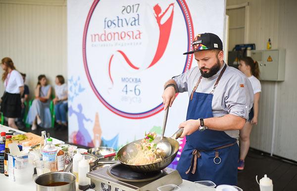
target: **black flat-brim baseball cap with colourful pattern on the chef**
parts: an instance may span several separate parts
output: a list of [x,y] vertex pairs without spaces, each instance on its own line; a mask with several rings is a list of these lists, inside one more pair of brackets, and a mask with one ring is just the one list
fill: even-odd
[[192,51],[185,52],[184,54],[193,54],[194,52],[202,50],[223,50],[222,40],[213,33],[203,33],[197,35],[193,40],[192,46]]

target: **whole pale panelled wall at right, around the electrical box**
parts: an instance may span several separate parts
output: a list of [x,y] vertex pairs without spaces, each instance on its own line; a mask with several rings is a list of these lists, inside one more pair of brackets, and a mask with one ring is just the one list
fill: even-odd
[[[255,43],[256,49],[261,50],[266,48],[267,40],[271,38],[272,49],[287,49],[285,81],[277,82],[277,86],[275,82],[261,81],[258,125],[251,133],[251,147],[270,153],[274,144],[274,154],[297,160],[297,1],[227,0],[227,6],[245,2],[249,2],[250,6],[249,43]],[[272,140],[274,109],[276,128],[275,139]]]

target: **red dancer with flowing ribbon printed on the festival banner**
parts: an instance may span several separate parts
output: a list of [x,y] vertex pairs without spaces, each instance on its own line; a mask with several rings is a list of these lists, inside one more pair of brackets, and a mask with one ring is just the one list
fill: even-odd
[[[163,24],[161,24],[161,19],[168,12],[168,10],[169,10],[169,8],[171,6],[172,6],[172,11],[171,11],[171,14],[170,14],[169,18]],[[168,7],[165,9],[165,11],[163,13],[161,13],[162,9],[159,6],[159,4],[156,4],[153,7],[156,22],[157,22],[158,27],[159,27],[159,41],[158,41],[158,46],[157,46],[155,55],[154,55],[151,63],[148,65],[148,68],[155,65],[160,60],[160,58],[163,56],[163,54],[164,54],[164,52],[166,50],[168,40],[169,40],[169,37],[170,37],[171,27],[172,27],[173,9],[174,9],[174,3],[169,4]],[[127,57],[127,55],[123,51],[117,50],[116,52],[120,53],[123,56],[123,58],[125,59],[127,64],[132,69],[139,70],[139,67],[132,64],[132,62],[129,60],[129,58]],[[112,84],[113,84],[113,80],[112,80],[112,77],[111,77],[110,66],[111,66],[113,56],[114,56],[114,54],[111,55],[111,57],[109,59],[109,63],[108,63],[108,75],[109,75],[109,78],[110,78]]]

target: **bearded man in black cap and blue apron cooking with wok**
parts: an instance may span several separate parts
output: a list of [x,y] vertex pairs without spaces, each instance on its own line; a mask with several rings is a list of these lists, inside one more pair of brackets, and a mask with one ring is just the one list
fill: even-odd
[[223,61],[223,43],[212,33],[193,41],[198,66],[164,85],[164,110],[176,93],[188,92],[189,106],[182,138],[187,142],[177,170],[189,181],[210,180],[216,185],[237,185],[239,130],[248,119],[253,91],[247,77]]

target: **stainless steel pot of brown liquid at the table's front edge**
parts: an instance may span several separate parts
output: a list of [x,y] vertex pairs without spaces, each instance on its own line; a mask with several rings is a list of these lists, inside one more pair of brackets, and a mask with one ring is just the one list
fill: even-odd
[[[35,179],[36,191],[75,191],[75,176],[69,172],[49,172]],[[66,182],[62,186],[49,186]]]

